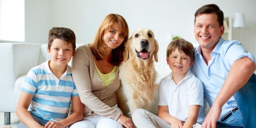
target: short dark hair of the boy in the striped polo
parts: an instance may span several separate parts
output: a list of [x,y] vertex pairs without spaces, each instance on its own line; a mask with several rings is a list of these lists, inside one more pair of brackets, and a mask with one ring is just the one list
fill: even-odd
[[61,39],[71,43],[73,51],[76,49],[76,35],[75,33],[69,28],[63,27],[53,27],[49,31],[49,38],[48,38],[48,48],[51,49],[52,42],[54,39]]

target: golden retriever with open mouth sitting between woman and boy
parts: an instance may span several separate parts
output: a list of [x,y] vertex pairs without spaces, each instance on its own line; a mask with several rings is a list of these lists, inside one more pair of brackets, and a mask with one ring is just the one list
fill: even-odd
[[[158,61],[157,52],[157,41],[148,28],[135,30],[127,40],[124,61],[119,66],[121,86],[117,92],[118,105],[124,115],[131,116],[138,108],[150,108],[158,88],[155,84],[157,72],[153,65],[153,59]],[[130,112],[126,113],[128,109]]]

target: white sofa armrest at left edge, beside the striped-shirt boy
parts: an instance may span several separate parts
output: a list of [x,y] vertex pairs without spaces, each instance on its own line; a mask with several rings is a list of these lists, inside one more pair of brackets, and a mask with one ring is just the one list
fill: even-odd
[[[15,112],[15,81],[38,65],[41,44],[0,43],[0,112]],[[18,101],[17,101],[18,102]]]

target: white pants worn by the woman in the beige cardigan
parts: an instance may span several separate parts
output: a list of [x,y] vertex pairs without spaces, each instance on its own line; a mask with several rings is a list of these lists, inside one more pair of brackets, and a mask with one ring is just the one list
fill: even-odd
[[[117,105],[113,107],[121,111]],[[82,121],[72,124],[69,128],[123,128],[123,126],[114,119],[96,115],[93,117],[84,117]]]

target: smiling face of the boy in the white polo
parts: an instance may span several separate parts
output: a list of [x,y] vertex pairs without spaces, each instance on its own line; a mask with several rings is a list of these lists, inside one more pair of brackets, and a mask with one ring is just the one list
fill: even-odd
[[167,64],[172,70],[173,75],[185,76],[187,74],[188,68],[193,65],[190,57],[184,52],[180,53],[176,48],[169,57],[166,57]]

